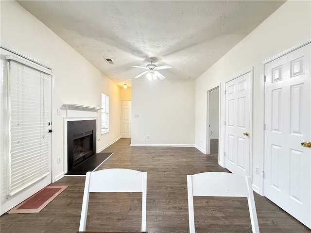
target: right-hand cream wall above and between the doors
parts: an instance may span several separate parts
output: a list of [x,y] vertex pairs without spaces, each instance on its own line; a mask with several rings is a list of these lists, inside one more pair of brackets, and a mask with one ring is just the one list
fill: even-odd
[[[224,81],[233,78],[245,69],[254,67],[253,82],[253,165],[263,168],[263,108],[261,72],[262,61],[276,53],[289,49],[299,43],[311,40],[311,2],[287,1],[274,14],[262,22],[252,33],[247,35],[237,46],[230,50],[216,64],[210,67],[196,80],[195,102],[195,144],[200,148],[206,134],[206,92],[219,82],[221,84],[221,120],[225,120]],[[256,107],[255,107],[256,106]],[[224,124],[220,135],[220,164],[224,161]],[[256,143],[255,143],[256,142]],[[262,178],[253,172],[256,191],[262,191]]]

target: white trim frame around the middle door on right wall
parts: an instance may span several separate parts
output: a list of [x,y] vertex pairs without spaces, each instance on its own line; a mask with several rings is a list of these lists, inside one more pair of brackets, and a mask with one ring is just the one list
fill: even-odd
[[[240,76],[244,75],[244,74],[247,74],[247,73],[250,73],[250,79],[249,79],[249,109],[250,109],[250,116],[249,116],[249,133],[250,133],[250,140],[249,140],[249,176],[251,177],[252,179],[252,183],[253,183],[253,79],[254,79],[254,67],[249,67],[247,69],[244,69],[242,72],[240,73],[237,73],[236,75],[233,75],[231,76],[229,79],[225,80],[224,82],[224,90],[225,90],[225,84],[236,79],[236,78],[239,78]],[[225,94],[226,95],[226,94]],[[226,98],[226,96],[225,96]],[[225,107],[225,98],[224,98],[224,107]],[[225,112],[225,108],[224,108],[224,113],[226,114]],[[225,116],[224,116],[225,118]],[[225,121],[225,119],[224,119]],[[225,122],[224,122],[225,123]],[[225,152],[225,127],[224,127],[224,136],[223,136],[223,140],[224,140],[224,152]],[[224,167],[225,167],[225,155],[224,156]],[[254,188],[254,186],[253,186]]]

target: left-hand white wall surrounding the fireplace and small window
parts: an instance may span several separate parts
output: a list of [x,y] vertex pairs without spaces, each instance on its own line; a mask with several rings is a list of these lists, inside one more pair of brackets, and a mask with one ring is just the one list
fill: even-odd
[[[109,95],[109,130],[101,135],[98,113],[97,149],[120,137],[120,87],[26,11],[16,1],[0,1],[1,44],[6,44],[52,67],[52,180],[59,177],[63,156],[64,103],[101,107],[101,92]],[[61,115],[57,115],[61,108]],[[62,157],[63,159],[63,157]]]

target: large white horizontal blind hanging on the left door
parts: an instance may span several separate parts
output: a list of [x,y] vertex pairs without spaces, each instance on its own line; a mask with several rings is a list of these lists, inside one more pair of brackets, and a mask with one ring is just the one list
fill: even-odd
[[10,196],[50,173],[51,75],[20,62],[9,68]]

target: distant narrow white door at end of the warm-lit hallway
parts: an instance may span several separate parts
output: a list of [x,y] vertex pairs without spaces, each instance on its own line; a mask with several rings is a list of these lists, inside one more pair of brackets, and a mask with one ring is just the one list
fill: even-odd
[[131,138],[131,101],[121,101],[121,138]]

